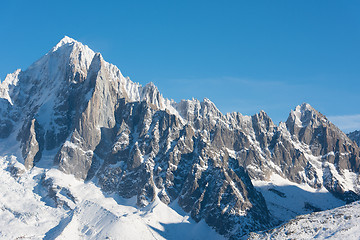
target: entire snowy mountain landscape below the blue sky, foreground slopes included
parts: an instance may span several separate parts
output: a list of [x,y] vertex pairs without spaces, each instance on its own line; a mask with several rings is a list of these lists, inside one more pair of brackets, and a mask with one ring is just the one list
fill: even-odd
[[358,239],[349,137],[307,103],[174,102],[64,37],[0,85],[0,238]]

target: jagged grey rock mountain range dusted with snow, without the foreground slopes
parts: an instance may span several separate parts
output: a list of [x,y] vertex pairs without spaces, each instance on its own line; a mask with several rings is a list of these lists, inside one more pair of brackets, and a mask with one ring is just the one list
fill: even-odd
[[55,166],[140,207],[178,202],[230,238],[277,223],[255,180],[278,175],[359,199],[358,146],[309,104],[275,125],[263,111],[176,103],[68,37],[9,74],[0,97],[0,137],[16,138],[27,169]]

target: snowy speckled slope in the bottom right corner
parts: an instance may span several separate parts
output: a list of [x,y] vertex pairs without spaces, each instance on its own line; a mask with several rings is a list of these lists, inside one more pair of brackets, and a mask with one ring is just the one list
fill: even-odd
[[250,239],[359,239],[360,202],[298,216],[273,230]]

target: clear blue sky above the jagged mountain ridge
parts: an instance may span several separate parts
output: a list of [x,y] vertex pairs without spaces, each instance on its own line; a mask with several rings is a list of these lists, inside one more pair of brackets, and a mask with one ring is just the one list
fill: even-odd
[[360,1],[2,1],[0,78],[64,35],[167,98],[207,97],[222,112],[303,102],[360,129]]

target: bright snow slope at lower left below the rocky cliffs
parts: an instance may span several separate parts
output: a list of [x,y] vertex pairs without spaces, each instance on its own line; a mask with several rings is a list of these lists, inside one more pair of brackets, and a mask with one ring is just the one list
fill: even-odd
[[14,156],[0,157],[0,181],[0,239],[223,238],[175,203],[139,209],[57,169],[25,171]]

